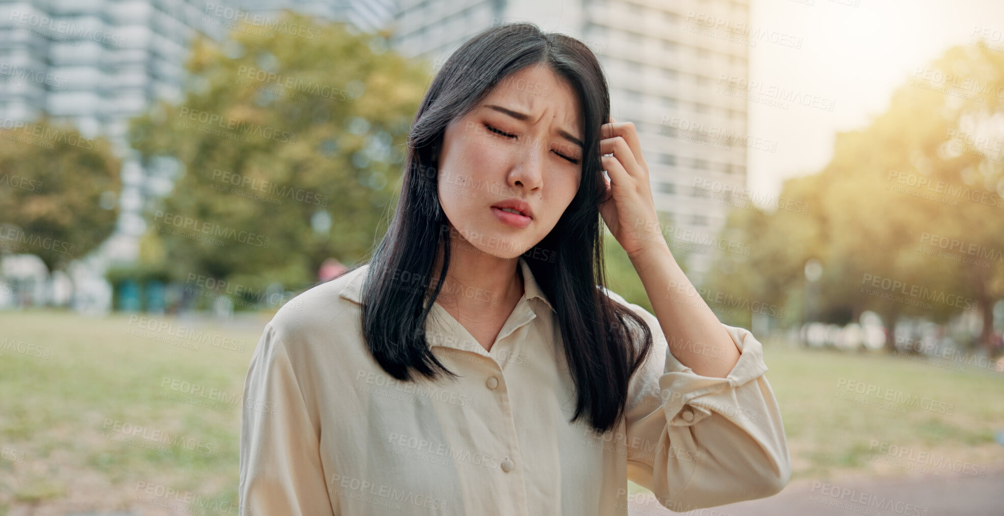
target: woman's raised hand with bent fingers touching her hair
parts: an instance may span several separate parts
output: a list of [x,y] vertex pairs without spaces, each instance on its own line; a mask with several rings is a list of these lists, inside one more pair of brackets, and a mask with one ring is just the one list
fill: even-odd
[[600,157],[610,176],[604,179],[606,195],[599,205],[603,222],[632,259],[650,249],[668,250],[635,124],[613,121],[610,116],[609,122],[600,126],[599,135],[600,154],[613,154]]

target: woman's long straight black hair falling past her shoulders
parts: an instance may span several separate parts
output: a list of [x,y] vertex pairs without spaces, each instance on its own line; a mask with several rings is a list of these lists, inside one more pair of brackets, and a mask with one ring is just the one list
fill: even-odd
[[[412,369],[434,379],[441,372],[457,376],[436,358],[425,335],[450,263],[452,226],[439,200],[439,151],[451,120],[469,112],[509,74],[532,64],[548,66],[577,93],[584,146],[578,192],[537,245],[554,253],[553,261],[526,261],[554,307],[563,337],[577,393],[569,423],[586,416],[593,429],[607,432],[623,416],[629,380],[653,339],[641,317],[600,290],[606,281],[598,209],[605,188],[599,127],[607,120],[610,101],[595,55],[575,38],[543,33],[526,22],[494,26],[464,43],[436,74],[409,136],[397,211],[369,261],[362,335],[384,370],[400,380],[413,379]],[[433,290],[440,246],[442,268]]]

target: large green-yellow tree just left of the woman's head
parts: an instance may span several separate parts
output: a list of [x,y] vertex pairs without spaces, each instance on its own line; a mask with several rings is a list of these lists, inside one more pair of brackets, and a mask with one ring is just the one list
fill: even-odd
[[175,277],[301,288],[325,258],[366,253],[429,80],[387,35],[286,13],[195,42],[185,99],[131,127],[145,161],[182,164],[149,214]]

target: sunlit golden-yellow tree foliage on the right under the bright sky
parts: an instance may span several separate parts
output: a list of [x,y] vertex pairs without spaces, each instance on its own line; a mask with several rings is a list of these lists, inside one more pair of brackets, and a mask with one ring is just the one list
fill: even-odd
[[872,309],[887,323],[944,322],[977,308],[989,345],[992,308],[1004,297],[1004,135],[993,121],[1004,116],[1001,77],[1004,54],[980,46],[951,48],[908,77],[887,112],[837,135],[822,171],[785,184],[781,197],[809,213],[730,220],[757,242],[732,276],[755,279],[716,279],[758,298],[798,297],[802,267],[816,258],[824,320]]

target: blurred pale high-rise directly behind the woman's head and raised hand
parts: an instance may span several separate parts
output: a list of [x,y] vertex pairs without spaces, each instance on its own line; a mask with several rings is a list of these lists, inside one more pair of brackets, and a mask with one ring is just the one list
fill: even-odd
[[603,65],[617,121],[633,121],[663,235],[699,283],[712,259],[745,243],[720,239],[746,186],[749,3],[730,0],[400,0],[392,45],[435,71],[464,41],[530,21],[583,40]]

